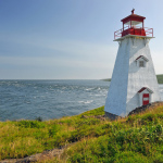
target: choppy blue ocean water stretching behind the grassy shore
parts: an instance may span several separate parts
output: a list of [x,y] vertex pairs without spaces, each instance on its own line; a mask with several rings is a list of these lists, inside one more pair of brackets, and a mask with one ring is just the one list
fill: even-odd
[[[0,80],[0,121],[76,115],[104,105],[103,80]],[[163,100],[163,85],[160,85]]]

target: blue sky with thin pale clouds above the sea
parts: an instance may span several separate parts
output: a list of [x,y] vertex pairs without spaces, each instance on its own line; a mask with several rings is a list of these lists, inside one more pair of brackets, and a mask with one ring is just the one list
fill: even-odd
[[149,42],[163,74],[163,0],[0,0],[0,79],[112,77],[114,32],[135,13],[154,30]]

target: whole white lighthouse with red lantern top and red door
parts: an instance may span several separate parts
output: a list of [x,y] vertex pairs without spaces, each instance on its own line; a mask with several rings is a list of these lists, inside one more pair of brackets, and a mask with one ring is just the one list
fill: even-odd
[[133,10],[122,20],[123,28],[114,33],[118,51],[104,106],[110,118],[126,116],[138,106],[161,100],[149,49],[153,28],[143,26],[145,18]]

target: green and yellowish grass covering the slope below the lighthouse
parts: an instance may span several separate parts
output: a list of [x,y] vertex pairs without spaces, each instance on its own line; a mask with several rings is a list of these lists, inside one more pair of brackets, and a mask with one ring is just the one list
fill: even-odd
[[117,121],[103,121],[103,106],[46,122],[0,122],[0,160],[24,158],[72,143],[43,162],[162,163],[163,105]]

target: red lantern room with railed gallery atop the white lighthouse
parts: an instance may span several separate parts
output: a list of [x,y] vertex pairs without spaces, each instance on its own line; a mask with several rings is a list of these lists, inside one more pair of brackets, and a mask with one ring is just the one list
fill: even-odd
[[114,33],[114,39],[126,35],[153,37],[153,28],[145,27],[143,21],[146,17],[135,14],[134,11],[135,9],[131,10],[130,15],[121,20],[123,22],[123,28]]

